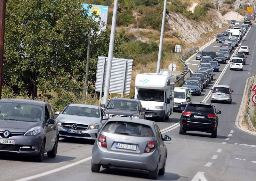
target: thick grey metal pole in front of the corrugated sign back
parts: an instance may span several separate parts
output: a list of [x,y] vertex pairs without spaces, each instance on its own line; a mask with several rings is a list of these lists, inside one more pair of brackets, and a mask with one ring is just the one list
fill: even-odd
[[110,86],[110,75],[111,75],[113,50],[114,50],[114,41],[115,41],[115,33],[116,33],[117,4],[118,4],[118,0],[115,0],[114,1],[114,8],[113,8],[113,16],[112,16],[109,48],[108,48],[108,64],[107,64],[107,71],[106,71],[104,95],[103,95],[103,101],[102,101],[102,104],[105,104],[105,105],[108,103],[108,93],[109,93],[109,86]]

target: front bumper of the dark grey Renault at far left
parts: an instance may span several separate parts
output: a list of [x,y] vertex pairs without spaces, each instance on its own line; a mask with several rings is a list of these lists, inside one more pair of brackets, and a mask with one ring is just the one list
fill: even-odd
[[0,152],[22,155],[38,155],[43,142],[43,138],[41,136],[42,134],[37,136],[12,136],[7,140],[15,140],[16,144],[0,144]]

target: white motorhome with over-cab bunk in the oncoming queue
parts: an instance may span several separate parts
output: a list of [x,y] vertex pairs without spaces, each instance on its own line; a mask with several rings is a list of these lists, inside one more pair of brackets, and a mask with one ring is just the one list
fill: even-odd
[[173,113],[174,81],[175,77],[167,71],[136,75],[135,98],[146,108],[146,119],[169,119]]

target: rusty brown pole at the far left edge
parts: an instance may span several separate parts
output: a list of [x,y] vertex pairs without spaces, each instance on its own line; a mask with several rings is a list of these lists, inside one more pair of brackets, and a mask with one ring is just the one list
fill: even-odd
[[5,29],[5,6],[6,0],[0,3],[0,99],[2,98],[3,84],[3,59],[4,59],[4,29]]

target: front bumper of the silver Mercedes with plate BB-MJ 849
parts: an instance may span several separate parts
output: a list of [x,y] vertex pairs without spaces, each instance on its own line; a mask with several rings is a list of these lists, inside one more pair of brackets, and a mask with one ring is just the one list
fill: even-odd
[[[81,134],[68,133],[68,129],[58,127],[61,138],[81,138],[88,140],[96,140],[98,137],[99,129],[81,130]],[[79,130],[80,131],[80,130]]]

